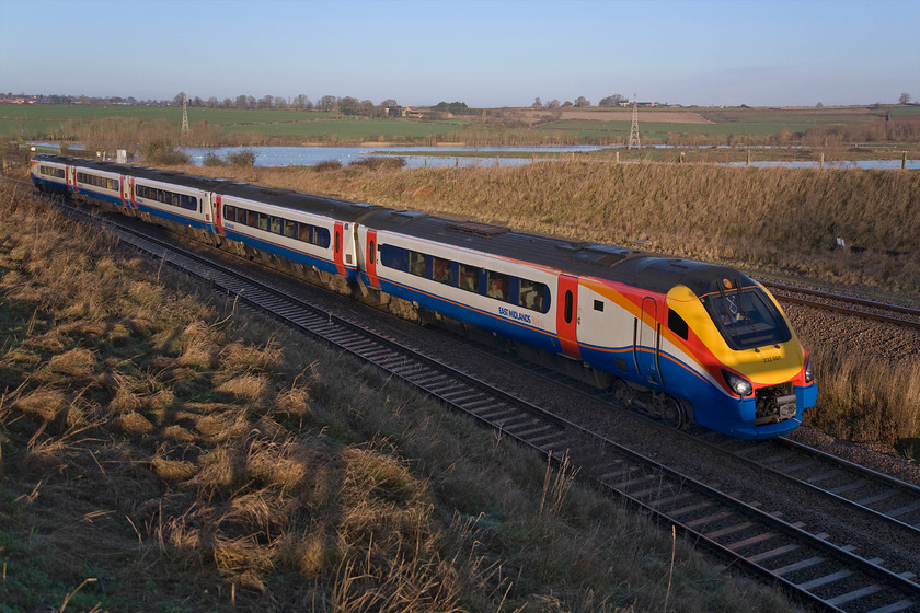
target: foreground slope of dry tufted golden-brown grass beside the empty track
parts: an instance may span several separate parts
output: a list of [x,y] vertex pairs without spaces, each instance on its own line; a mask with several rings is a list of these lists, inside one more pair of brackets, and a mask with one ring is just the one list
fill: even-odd
[[789,609],[23,192],[0,187],[0,612]]

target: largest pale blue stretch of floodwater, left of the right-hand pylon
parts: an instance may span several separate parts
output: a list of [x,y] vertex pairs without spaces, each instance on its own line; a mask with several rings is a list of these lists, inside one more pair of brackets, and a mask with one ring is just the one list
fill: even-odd
[[[249,149],[255,152],[256,166],[313,166],[322,162],[341,162],[350,164],[366,158],[373,158],[373,151],[387,151],[387,147],[186,147],[185,153],[191,155],[192,163],[203,165],[205,155],[214,153],[221,160],[228,153]],[[520,166],[529,164],[530,158],[502,158],[502,152],[524,151],[536,155],[545,152],[597,151],[605,149],[600,146],[576,147],[393,147],[393,151],[407,151],[414,154],[400,155],[405,159],[406,167],[417,169],[428,166],[494,166],[496,157],[501,166]],[[446,155],[450,151],[481,151],[485,157],[452,157]],[[428,154],[426,154],[428,153]],[[441,155],[438,155],[441,153]],[[492,155],[495,153],[495,155]]]

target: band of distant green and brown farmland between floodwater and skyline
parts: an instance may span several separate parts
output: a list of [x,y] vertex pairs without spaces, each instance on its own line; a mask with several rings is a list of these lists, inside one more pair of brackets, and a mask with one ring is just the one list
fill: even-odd
[[[667,119],[668,113],[687,109],[655,109],[655,118]],[[844,129],[841,142],[864,142],[894,140],[917,142],[920,131],[920,106],[853,106],[831,108],[692,108],[705,123],[678,123],[667,120],[645,122],[639,112],[643,142],[668,142],[675,136],[678,140],[702,140],[705,143],[746,144],[768,142],[785,135],[803,135],[814,128]],[[610,115],[607,115],[608,117]],[[651,118],[649,115],[647,115]],[[598,113],[598,117],[603,114]],[[677,118],[677,117],[675,117]],[[886,118],[893,125],[910,124],[900,130],[900,136],[885,135]],[[169,106],[81,106],[81,105],[4,105],[0,106],[0,135],[24,140],[92,140],[106,129],[112,131],[118,119],[140,122],[150,127],[159,138],[179,141],[182,109]],[[358,142],[375,140],[381,142],[427,142],[461,140],[470,144],[545,144],[545,143],[607,143],[623,142],[629,138],[630,122],[598,120],[591,118],[561,119],[531,128],[519,124],[490,120],[479,117],[438,120],[416,118],[367,118],[344,116],[335,113],[297,109],[237,109],[200,108],[188,109],[192,138],[203,146],[214,144],[262,144],[273,142],[300,143],[303,141]],[[97,123],[93,124],[93,123]],[[107,127],[103,127],[107,126]],[[138,126],[129,126],[129,134],[139,132]],[[174,130],[172,128],[174,128]],[[881,128],[881,136],[878,131]],[[866,129],[876,132],[866,136]],[[207,134],[207,142],[202,135]],[[736,137],[731,138],[732,137]],[[680,137],[683,137],[682,139]],[[797,138],[797,137],[796,137]],[[215,141],[215,139],[217,141]],[[702,143],[702,142],[700,142]]]

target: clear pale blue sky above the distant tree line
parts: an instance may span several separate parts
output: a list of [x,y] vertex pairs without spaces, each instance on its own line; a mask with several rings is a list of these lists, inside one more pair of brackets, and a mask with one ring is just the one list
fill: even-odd
[[920,0],[0,0],[0,93],[920,101]]

